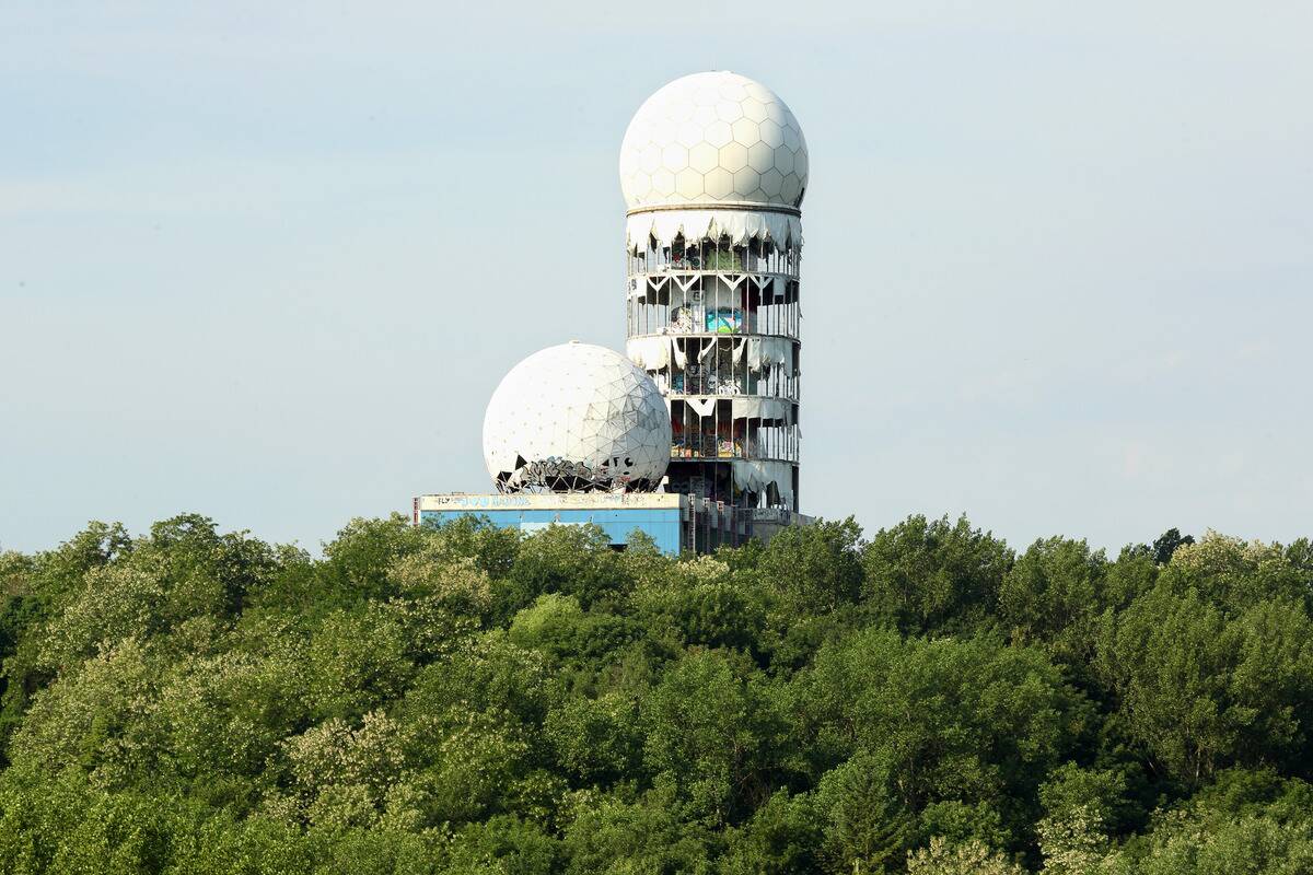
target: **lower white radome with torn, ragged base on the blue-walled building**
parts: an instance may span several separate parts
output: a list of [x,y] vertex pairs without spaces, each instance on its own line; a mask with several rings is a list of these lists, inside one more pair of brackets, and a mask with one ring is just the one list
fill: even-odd
[[492,392],[483,460],[503,492],[655,489],[670,463],[670,412],[646,371],[620,353],[549,346]]

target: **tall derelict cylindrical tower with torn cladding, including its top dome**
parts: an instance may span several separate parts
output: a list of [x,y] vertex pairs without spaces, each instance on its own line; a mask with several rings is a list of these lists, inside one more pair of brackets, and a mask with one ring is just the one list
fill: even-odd
[[786,521],[798,512],[802,129],[746,76],[684,76],[634,114],[620,182],[625,352],[670,407],[667,489]]

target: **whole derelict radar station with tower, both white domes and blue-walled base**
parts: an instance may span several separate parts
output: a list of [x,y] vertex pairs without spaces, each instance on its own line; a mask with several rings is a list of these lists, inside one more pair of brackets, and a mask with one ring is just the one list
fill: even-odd
[[798,265],[807,147],[775,92],[684,76],[620,150],[625,353],[561,344],[488,401],[495,493],[412,500],[416,526],[477,517],[534,533],[596,526],[667,555],[769,540],[798,513]]

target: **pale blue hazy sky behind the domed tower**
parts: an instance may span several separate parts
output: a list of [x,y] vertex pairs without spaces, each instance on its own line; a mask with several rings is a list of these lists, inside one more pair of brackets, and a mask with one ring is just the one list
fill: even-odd
[[1313,5],[0,0],[0,548],[315,551],[483,492],[624,346],[617,153],[734,70],[807,138],[806,513],[1313,535]]

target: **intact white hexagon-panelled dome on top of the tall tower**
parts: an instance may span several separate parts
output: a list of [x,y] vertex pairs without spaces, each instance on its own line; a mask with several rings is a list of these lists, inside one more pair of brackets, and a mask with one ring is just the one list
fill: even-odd
[[807,188],[802,127],[775,92],[729,71],[693,73],[647,98],[620,146],[620,188],[647,206],[798,207]]

